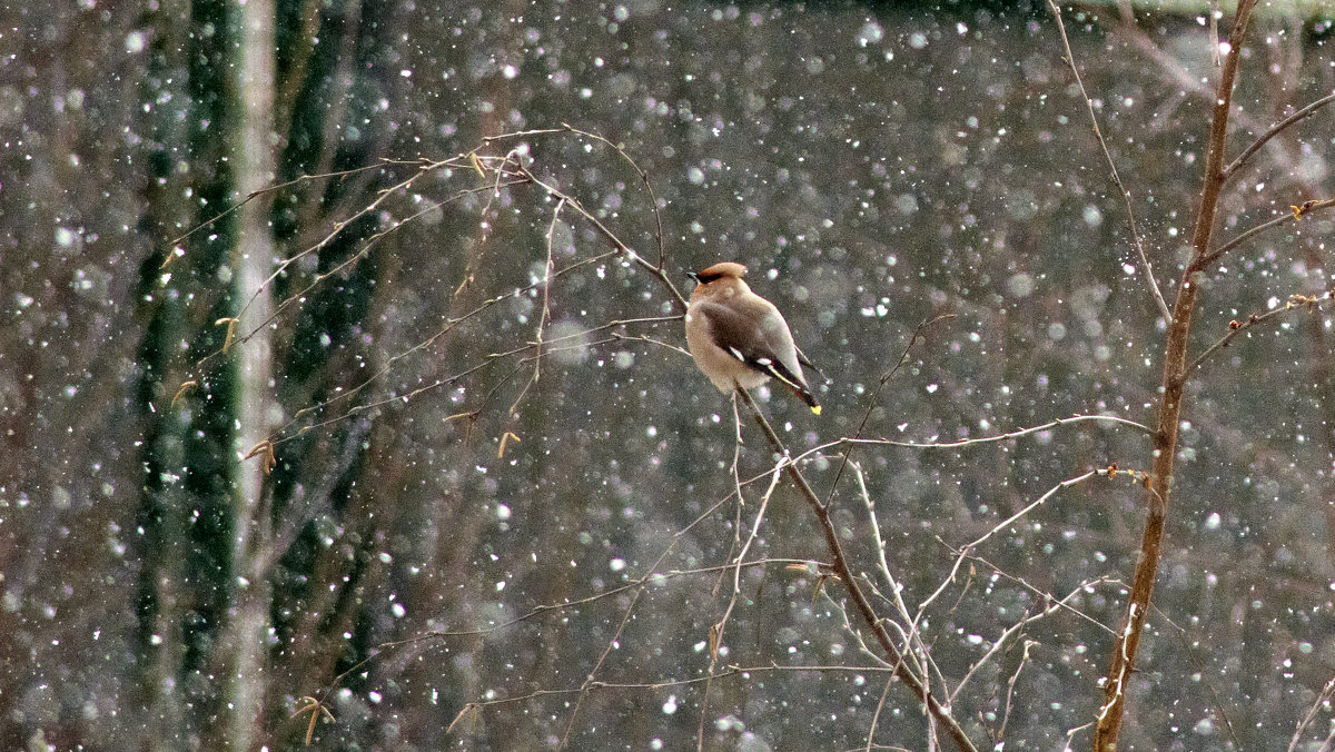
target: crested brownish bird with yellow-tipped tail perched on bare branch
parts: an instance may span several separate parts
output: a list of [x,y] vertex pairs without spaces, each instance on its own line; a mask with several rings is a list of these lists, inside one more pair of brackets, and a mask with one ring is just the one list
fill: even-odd
[[721,262],[686,276],[696,282],[686,306],[686,346],[709,381],[732,393],[776,378],[820,415],[802,375],[802,365],[816,366],[797,349],[784,314],[752,293],[742,279],[746,267]]

